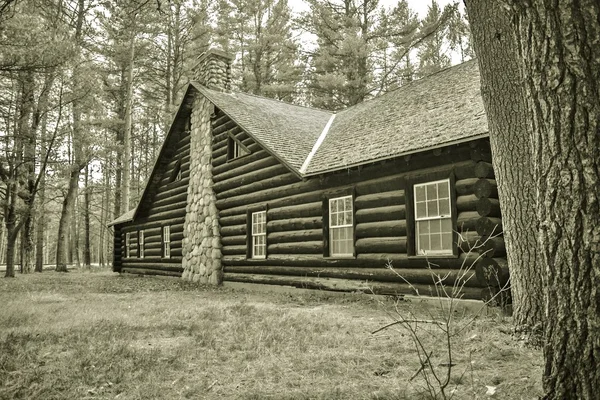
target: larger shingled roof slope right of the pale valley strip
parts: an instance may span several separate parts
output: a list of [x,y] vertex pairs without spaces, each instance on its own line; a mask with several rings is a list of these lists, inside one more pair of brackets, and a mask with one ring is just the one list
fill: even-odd
[[477,61],[337,114],[306,175],[487,136]]

